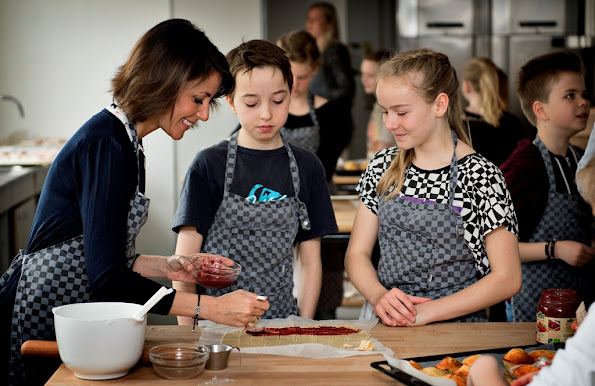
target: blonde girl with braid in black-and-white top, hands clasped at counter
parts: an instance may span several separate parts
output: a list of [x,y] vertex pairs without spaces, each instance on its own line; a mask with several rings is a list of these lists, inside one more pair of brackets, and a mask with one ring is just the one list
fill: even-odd
[[380,66],[376,96],[398,148],[378,152],[357,186],[345,265],[367,300],[360,318],[487,321],[486,307],[520,290],[512,201],[498,168],[469,146],[458,90],[448,57],[432,50]]

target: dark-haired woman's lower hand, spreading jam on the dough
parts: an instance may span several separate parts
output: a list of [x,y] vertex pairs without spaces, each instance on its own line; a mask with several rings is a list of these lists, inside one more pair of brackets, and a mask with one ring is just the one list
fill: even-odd
[[[228,326],[244,327],[256,323],[271,305],[268,300],[257,299],[257,294],[237,290],[212,297],[208,308],[208,319]],[[212,305],[210,304],[212,302]]]

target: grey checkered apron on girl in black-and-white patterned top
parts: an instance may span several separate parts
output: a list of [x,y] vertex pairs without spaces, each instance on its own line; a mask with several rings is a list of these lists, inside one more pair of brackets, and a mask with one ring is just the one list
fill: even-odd
[[[477,281],[475,259],[464,239],[463,219],[454,208],[458,165],[457,137],[450,164],[449,203],[412,202],[402,197],[378,206],[380,261],[378,279],[386,288],[408,295],[442,298]],[[376,317],[366,301],[360,319]],[[448,322],[487,322],[481,310]]]

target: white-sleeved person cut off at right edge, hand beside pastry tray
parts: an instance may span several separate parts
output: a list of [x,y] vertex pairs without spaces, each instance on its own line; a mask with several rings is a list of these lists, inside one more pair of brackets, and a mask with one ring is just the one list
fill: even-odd
[[[591,203],[591,211],[595,216],[595,158],[591,158],[576,178],[582,186],[581,195]],[[592,385],[595,379],[594,330],[595,305],[591,304],[576,335],[566,341],[564,349],[558,350],[551,366],[515,380],[512,386]],[[484,355],[471,366],[467,385],[507,386],[508,381],[504,379],[496,359]]]

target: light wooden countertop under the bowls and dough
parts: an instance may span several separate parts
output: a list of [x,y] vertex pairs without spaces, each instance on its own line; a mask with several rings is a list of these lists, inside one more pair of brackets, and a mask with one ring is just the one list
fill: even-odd
[[[422,327],[377,325],[371,335],[395,352],[395,358],[452,354],[475,350],[519,347],[535,344],[535,323],[437,323]],[[196,342],[189,326],[148,326],[145,345]],[[234,385],[395,385],[391,377],[370,367],[384,360],[381,355],[358,355],[337,359],[308,359],[264,354],[240,354],[233,350],[225,370],[205,370],[196,378],[170,381],[160,378],[152,367],[136,367],[125,377],[100,382],[76,378],[64,365],[47,385],[192,385],[213,377],[233,380]],[[241,362],[241,363],[240,363]]]

